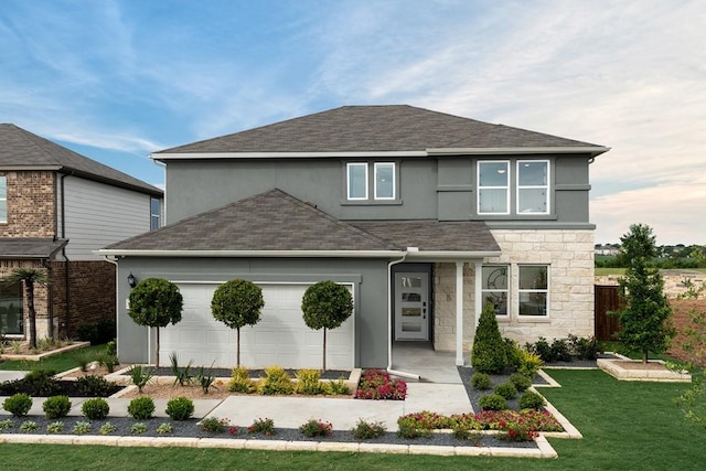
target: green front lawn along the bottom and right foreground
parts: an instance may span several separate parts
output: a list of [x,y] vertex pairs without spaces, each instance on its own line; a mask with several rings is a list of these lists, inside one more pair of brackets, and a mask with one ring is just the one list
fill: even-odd
[[549,439],[559,453],[556,460],[3,443],[2,467],[43,470],[61,463],[62,470],[111,471],[165,465],[174,471],[703,469],[706,429],[684,419],[672,403],[687,385],[618,382],[600,371],[552,370],[549,374],[563,387],[543,388],[543,394],[584,433],[581,440]]

